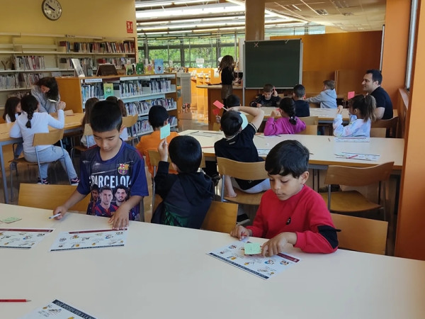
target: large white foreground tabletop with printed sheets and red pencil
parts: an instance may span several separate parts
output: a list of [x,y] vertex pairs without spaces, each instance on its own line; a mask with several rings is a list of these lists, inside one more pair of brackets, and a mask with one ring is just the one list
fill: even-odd
[[[50,252],[60,231],[108,228],[107,218],[0,203],[13,228],[55,228],[30,250],[0,249],[1,318],[55,298],[97,318],[424,318],[425,262],[338,250],[305,254],[267,281],[210,257],[227,234],[130,222],[125,247]],[[0,225],[4,227],[4,224]],[[253,241],[263,242],[254,238]]]

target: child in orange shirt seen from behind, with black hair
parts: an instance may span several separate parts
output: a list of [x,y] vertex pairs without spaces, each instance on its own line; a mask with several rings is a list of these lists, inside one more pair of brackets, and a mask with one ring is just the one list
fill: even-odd
[[[143,135],[140,138],[140,142],[137,143],[136,147],[139,152],[146,158],[146,166],[149,169],[149,173],[154,178],[154,167],[150,163],[149,150],[157,150],[158,145],[161,142],[161,128],[168,124],[169,113],[166,111],[164,106],[154,105],[149,109],[148,121],[152,125],[154,131],[149,135]],[[166,142],[170,143],[173,138],[179,136],[176,132],[170,132],[170,135],[166,138]],[[170,170],[171,173],[176,174],[174,169]]]

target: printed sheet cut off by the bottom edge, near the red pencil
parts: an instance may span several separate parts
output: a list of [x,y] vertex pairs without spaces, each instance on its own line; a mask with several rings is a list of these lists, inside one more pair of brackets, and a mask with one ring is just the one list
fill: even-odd
[[96,319],[91,315],[84,313],[67,303],[59,300],[54,300],[46,306],[34,310],[28,315],[24,315],[21,319],[38,319],[38,318],[55,318],[55,319]]

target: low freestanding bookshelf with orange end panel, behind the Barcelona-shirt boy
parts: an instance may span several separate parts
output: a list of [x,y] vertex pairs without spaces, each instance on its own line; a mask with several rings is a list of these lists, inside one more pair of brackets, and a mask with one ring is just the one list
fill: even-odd
[[139,116],[133,135],[152,133],[148,123],[149,109],[162,105],[169,111],[171,128],[177,126],[176,74],[147,74],[108,77],[57,77],[62,101],[67,109],[82,112],[84,103],[91,97],[105,99],[105,84],[112,84],[113,96],[123,100],[128,115]]

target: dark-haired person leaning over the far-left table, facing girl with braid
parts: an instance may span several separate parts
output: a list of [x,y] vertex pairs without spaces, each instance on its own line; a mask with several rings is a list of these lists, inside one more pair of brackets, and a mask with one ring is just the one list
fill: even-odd
[[[31,87],[31,95],[40,104],[40,113],[55,113],[60,102],[59,89],[54,77],[42,77]],[[64,103],[64,102],[62,102]]]

